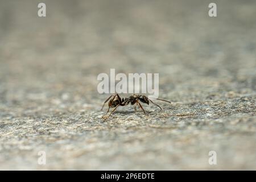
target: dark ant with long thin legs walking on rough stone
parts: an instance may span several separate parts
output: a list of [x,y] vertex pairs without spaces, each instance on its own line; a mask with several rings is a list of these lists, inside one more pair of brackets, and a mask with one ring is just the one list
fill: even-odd
[[[111,98],[111,100],[110,100],[110,98]],[[171,104],[170,101],[162,100],[162,99],[160,99],[160,98],[155,98],[155,99],[156,99],[156,100],[160,100],[160,101],[169,102],[169,103]],[[110,100],[110,101],[109,101],[109,100]],[[147,105],[149,105],[149,101],[150,101],[152,104],[158,106],[158,107],[162,110],[162,107],[160,107],[159,105],[155,104],[155,103],[152,102],[148,97],[146,97],[146,96],[144,96],[144,95],[133,94],[133,95],[131,95],[130,97],[125,97],[125,98],[122,98],[122,99],[121,99],[121,97],[118,96],[118,94],[112,95],[112,96],[110,96],[109,98],[107,98],[107,100],[104,102],[104,104],[103,104],[102,107],[101,107],[101,110],[103,109],[104,105],[105,105],[106,102],[108,102],[108,101],[109,101],[109,109],[110,109],[110,107],[115,107],[115,108],[112,110],[112,112],[109,114],[108,117],[106,117],[106,115],[105,115],[105,116],[103,117],[104,119],[108,119],[108,118],[110,117],[110,115],[111,115],[112,113],[114,113],[115,109],[117,109],[118,106],[126,106],[126,105],[128,105],[128,104],[131,104],[131,105],[136,104],[136,105],[134,106],[134,110],[136,110],[136,107],[139,105],[139,107],[141,107],[141,109],[143,110],[144,114],[146,114],[146,112],[144,111],[144,109],[143,109],[141,103],[139,103],[139,101],[141,101],[141,102],[143,102],[143,103],[145,103],[145,104],[147,104]],[[108,109],[108,111],[107,111],[106,114],[109,113],[109,109]]]

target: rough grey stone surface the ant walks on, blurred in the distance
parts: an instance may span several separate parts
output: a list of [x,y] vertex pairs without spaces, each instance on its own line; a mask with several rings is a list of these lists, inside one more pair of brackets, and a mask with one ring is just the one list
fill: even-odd
[[[256,1],[38,2],[0,1],[0,169],[256,169]],[[110,68],[172,104],[102,120]]]

